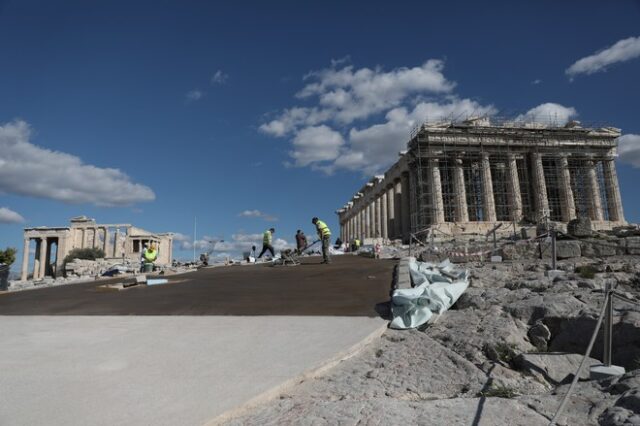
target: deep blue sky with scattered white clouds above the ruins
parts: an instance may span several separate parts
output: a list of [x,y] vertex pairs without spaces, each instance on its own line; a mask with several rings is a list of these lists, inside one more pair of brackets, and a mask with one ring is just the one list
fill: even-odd
[[622,128],[637,222],[638,22],[638,1],[0,0],[0,247],[81,214],[181,233],[178,258],[194,217],[221,253],[337,233],[412,125],[471,113]]

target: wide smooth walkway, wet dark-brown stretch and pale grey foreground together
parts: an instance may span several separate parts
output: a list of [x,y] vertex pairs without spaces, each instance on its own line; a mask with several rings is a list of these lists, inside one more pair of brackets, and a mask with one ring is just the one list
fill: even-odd
[[[0,424],[207,423],[380,333],[374,305],[388,300],[392,266],[345,256],[328,267],[207,269],[115,293],[91,283],[2,295],[0,314],[11,315],[0,317]],[[136,313],[148,315],[123,315]]]

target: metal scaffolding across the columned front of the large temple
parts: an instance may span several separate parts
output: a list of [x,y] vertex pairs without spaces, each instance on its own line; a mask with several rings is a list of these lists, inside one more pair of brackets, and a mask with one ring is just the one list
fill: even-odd
[[[483,119],[425,122],[412,129],[408,143],[411,233],[437,229],[442,219],[460,223],[462,217],[468,217],[467,223],[514,222],[514,226],[516,219],[519,224],[562,222],[575,216],[609,220],[602,162],[610,160],[609,151],[615,143],[591,144],[585,149],[588,128],[495,118],[491,124],[487,120],[476,125],[478,120]],[[487,158],[490,174],[485,168]],[[543,182],[536,181],[540,175],[537,158]],[[519,217],[514,213],[516,194],[511,193],[509,184],[513,165],[519,182]],[[457,211],[462,205],[458,203],[462,188],[456,185],[455,173],[464,176],[466,215]],[[562,182],[567,178],[575,213],[569,213],[571,204],[565,200],[568,191]],[[535,190],[536,184],[544,185],[546,200],[543,192]],[[438,220],[438,214],[443,218]]]

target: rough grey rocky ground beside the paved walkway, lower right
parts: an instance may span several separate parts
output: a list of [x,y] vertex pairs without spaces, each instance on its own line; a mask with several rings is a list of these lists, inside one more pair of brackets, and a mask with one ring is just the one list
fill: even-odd
[[[470,288],[435,324],[387,330],[229,424],[546,425],[582,359],[605,283],[640,300],[639,256],[566,259],[553,281],[541,261],[466,266]],[[583,372],[559,424],[640,424],[640,307],[614,307],[613,361],[628,373],[589,381]],[[601,359],[601,337],[591,356],[589,364]]]

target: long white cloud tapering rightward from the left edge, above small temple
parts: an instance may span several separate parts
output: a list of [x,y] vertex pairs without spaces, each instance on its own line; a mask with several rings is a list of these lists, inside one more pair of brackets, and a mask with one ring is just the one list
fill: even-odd
[[24,121],[0,126],[0,193],[97,206],[155,199],[151,188],[131,182],[118,169],[83,164],[74,155],[34,145],[30,138]]

